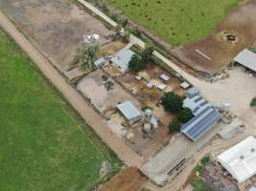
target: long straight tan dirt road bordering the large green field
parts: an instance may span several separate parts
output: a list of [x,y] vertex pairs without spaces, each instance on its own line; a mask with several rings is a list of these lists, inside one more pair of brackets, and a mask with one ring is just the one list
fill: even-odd
[[122,159],[128,166],[140,167],[143,159],[133,152],[128,145],[117,138],[107,128],[106,123],[87,105],[82,96],[69,85],[51,63],[35,49],[35,46],[21,33],[18,32],[9,18],[0,11],[0,26],[12,36],[16,43],[35,62],[37,67],[45,74],[58,88],[62,95],[79,112],[81,117],[94,129],[105,143]]

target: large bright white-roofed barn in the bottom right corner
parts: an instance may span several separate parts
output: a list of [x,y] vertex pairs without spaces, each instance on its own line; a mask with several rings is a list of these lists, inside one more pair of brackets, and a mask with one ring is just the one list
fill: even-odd
[[239,183],[256,174],[256,138],[245,138],[218,156],[218,161]]

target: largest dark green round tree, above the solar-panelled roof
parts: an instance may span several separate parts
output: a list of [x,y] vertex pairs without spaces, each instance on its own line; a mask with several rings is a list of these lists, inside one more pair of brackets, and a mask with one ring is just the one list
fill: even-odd
[[162,105],[165,111],[178,113],[182,110],[183,100],[180,96],[175,95],[175,93],[169,92],[162,97]]

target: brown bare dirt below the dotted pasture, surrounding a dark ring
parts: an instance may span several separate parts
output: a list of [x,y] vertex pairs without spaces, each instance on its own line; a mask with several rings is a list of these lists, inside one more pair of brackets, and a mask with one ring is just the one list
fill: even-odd
[[[228,32],[238,36],[237,42],[226,42],[222,37]],[[228,64],[233,57],[244,48],[256,44],[256,1],[251,0],[233,9],[216,31],[208,37],[192,43],[189,46],[177,48],[174,54],[184,63],[198,71],[214,74]],[[196,50],[206,54],[211,61],[196,53]]]

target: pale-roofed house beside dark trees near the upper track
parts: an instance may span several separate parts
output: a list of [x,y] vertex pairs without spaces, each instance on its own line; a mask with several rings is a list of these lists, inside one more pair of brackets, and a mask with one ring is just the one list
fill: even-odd
[[124,72],[128,70],[128,62],[130,61],[132,55],[135,54],[130,50],[121,50],[112,57],[111,61]]

